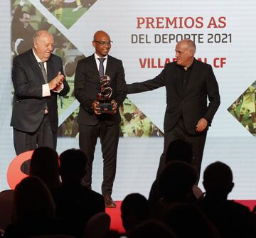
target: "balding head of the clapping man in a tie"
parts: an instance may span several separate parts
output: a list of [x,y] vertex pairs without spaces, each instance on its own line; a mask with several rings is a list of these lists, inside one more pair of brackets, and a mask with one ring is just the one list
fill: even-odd
[[48,31],[37,31],[33,37],[33,50],[43,62],[50,58],[53,51],[53,36]]

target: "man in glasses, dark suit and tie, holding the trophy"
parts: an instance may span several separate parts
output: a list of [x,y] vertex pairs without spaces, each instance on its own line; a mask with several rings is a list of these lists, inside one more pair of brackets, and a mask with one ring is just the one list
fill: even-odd
[[[111,198],[112,186],[116,172],[117,145],[119,141],[119,106],[126,97],[126,82],[122,61],[108,55],[112,41],[104,31],[97,31],[92,45],[95,53],[78,62],[75,72],[75,97],[80,102],[78,114],[79,145],[87,155],[85,178],[82,184],[91,188],[92,162],[94,158],[97,137],[100,137],[103,157],[102,195],[106,207],[116,207]],[[102,63],[103,62],[103,69]],[[100,72],[99,72],[100,70]],[[101,113],[97,94],[100,92],[100,75],[110,77],[112,94],[111,113]]]

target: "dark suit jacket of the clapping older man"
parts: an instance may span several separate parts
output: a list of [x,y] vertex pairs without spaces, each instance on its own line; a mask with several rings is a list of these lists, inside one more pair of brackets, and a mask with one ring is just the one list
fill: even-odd
[[[53,80],[59,71],[64,75],[63,63],[58,56],[52,54],[47,61],[48,82]],[[56,132],[58,130],[57,95],[63,96],[68,93],[68,82],[63,81],[64,88],[60,93],[50,91],[50,97],[42,97],[42,85],[45,82],[32,50],[14,58],[12,80],[14,104],[11,126],[20,131],[36,131],[43,119],[47,103],[50,124],[53,132]]]

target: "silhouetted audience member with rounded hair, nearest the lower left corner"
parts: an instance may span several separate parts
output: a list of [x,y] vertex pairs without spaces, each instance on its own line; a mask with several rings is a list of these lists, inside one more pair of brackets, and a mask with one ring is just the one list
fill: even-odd
[[14,190],[13,221],[4,237],[28,238],[60,231],[52,195],[43,181],[33,176],[21,180]]

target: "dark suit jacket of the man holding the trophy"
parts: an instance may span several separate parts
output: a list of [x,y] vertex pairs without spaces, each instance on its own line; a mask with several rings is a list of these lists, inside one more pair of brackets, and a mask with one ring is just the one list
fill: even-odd
[[[108,55],[105,75],[110,76],[110,87],[113,90],[110,101],[114,99],[118,105],[122,104],[126,97],[126,82],[122,61]],[[96,115],[91,108],[92,102],[97,100],[97,93],[100,92],[99,77],[94,54],[78,62],[75,71],[75,97],[80,102],[79,124],[94,126],[99,120],[105,120],[109,125],[119,124],[120,122],[118,109],[116,114]]]

